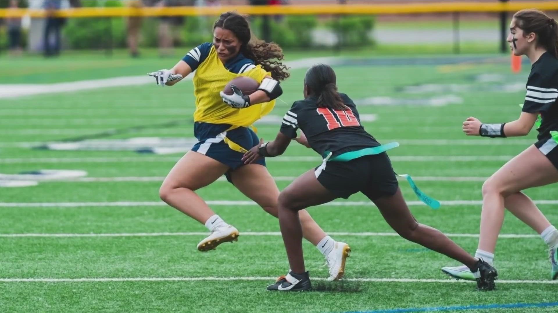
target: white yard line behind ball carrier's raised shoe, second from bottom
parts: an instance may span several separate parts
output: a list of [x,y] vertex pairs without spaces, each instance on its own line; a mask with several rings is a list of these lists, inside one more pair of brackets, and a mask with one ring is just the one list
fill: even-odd
[[[281,236],[281,232],[240,232],[242,236]],[[358,236],[358,237],[399,237],[398,233],[374,233],[374,232],[330,232],[331,236]],[[163,236],[206,236],[206,232],[162,232],[162,233],[21,233],[0,234],[0,237],[163,237]],[[445,234],[449,237],[478,238],[479,234]],[[499,238],[540,238],[538,234],[500,234]]]

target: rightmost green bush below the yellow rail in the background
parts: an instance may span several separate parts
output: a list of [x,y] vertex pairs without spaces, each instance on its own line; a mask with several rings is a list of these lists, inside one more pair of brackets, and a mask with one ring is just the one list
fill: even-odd
[[338,33],[341,46],[354,47],[373,43],[372,38],[369,37],[369,33],[374,28],[372,16],[342,16],[339,19],[332,19],[326,25]]

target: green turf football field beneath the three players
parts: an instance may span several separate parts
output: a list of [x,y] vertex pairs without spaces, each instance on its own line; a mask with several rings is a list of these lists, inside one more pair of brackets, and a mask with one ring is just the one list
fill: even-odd
[[[401,180],[413,214],[420,222],[450,234],[471,253],[478,241],[483,179],[536,137],[535,131],[517,139],[468,138],[461,133],[461,123],[469,116],[498,123],[519,115],[529,66],[512,74],[509,65],[494,62],[495,57],[499,56],[453,65],[348,62],[334,67],[340,91],[363,102],[361,115],[376,119],[364,122],[365,128],[381,143],[401,143],[389,151],[396,172],[411,174],[425,193],[442,201],[438,210],[418,203]],[[44,79],[36,79],[28,66],[29,72],[16,81],[2,72],[0,82],[25,82],[26,77],[40,83],[142,75],[170,67],[175,60],[114,64],[93,60],[83,65],[83,73],[70,66],[79,63],[73,60],[60,70],[56,64],[65,64],[64,58],[45,66],[39,66],[39,59],[33,62]],[[120,66],[126,71],[118,74],[114,68]],[[59,71],[68,76],[60,79]],[[304,72],[292,70],[292,77],[282,84],[285,103],[278,101],[272,116],[282,116],[288,104],[300,99]],[[492,77],[479,76],[483,74],[502,76],[482,80]],[[421,93],[408,89],[420,84],[437,89]],[[520,85],[519,89],[505,92],[512,84]],[[180,153],[25,148],[107,130],[122,132],[105,140],[191,138],[192,92],[191,82],[184,81],[172,88],[153,84],[0,99],[0,173],[75,169],[85,170],[89,179],[0,188],[0,312],[403,312],[394,310],[470,305],[478,307],[469,307],[467,312],[556,311],[556,306],[498,306],[556,301],[557,285],[548,283],[545,244],[510,214],[502,233],[532,236],[500,239],[498,290],[484,293],[474,291],[474,283],[442,275],[440,267],[458,263],[390,236],[392,230],[363,195],[310,208],[326,232],[352,248],[347,281],[320,280],[328,275],[326,267],[321,267],[323,258],[305,243],[307,270],[320,291],[277,294],[265,291],[288,269],[275,218],[219,180],[199,194],[239,229],[240,238],[201,253],[196,244],[205,237],[205,227],[160,202],[162,177]],[[384,98],[365,105],[372,101],[363,100],[368,97]],[[433,101],[436,105],[421,104],[433,98],[438,99]],[[416,103],[401,105],[410,100]],[[157,126],[170,121],[176,125]],[[151,127],[132,129],[145,125]],[[258,133],[271,140],[278,128],[278,124],[259,123]],[[268,168],[283,189],[319,163],[313,151],[293,143],[285,156],[268,159]],[[535,200],[550,200],[540,207],[551,222],[558,222],[556,187],[526,193]]]

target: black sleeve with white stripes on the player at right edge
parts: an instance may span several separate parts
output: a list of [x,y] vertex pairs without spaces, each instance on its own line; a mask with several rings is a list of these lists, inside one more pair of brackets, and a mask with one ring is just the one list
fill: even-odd
[[558,97],[555,73],[543,75],[534,72],[527,80],[527,95],[523,102],[523,112],[538,113],[550,110]]

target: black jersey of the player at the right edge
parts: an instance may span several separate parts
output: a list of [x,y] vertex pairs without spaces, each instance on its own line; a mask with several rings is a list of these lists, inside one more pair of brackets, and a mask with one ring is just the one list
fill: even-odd
[[538,140],[550,139],[550,131],[558,130],[558,60],[550,52],[542,54],[531,66],[527,79],[527,96],[523,112],[540,113]]

